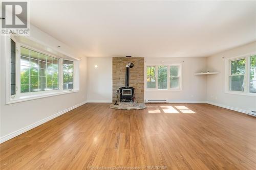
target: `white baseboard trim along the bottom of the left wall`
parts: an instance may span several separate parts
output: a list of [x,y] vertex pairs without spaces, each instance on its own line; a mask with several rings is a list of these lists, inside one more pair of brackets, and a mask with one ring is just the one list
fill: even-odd
[[5,135],[5,136],[0,138],[0,143],[3,143],[5,141],[7,141],[7,140],[10,140],[11,138],[14,138],[14,137],[16,137],[16,136],[18,136],[18,135],[20,135],[20,134],[22,134],[24,132],[27,132],[27,131],[29,131],[29,130],[31,130],[31,129],[33,129],[33,128],[41,125],[41,124],[44,124],[44,123],[48,122],[49,120],[51,120],[51,119],[53,119],[55,117],[60,116],[61,114],[67,113],[68,111],[73,110],[73,109],[75,109],[75,108],[77,108],[79,106],[82,106],[82,105],[86,104],[86,103],[87,103],[87,101],[84,101],[84,102],[79,103],[79,104],[77,104],[75,106],[72,106],[70,108],[62,110],[62,111],[60,111],[60,112],[58,112],[56,114],[53,114],[53,115],[51,115],[49,117],[46,117],[46,118],[44,118],[42,120],[39,120],[38,122],[36,122],[34,124],[31,124],[31,125],[29,125],[29,126],[27,126],[25,128],[19,129],[19,130],[15,131],[15,132],[12,132],[12,133],[8,134],[8,135]]

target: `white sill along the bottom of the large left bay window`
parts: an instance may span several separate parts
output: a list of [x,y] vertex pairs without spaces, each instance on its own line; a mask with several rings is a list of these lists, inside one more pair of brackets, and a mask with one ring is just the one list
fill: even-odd
[[35,99],[41,99],[41,98],[48,98],[50,96],[55,96],[55,95],[62,95],[62,94],[69,94],[69,93],[75,93],[79,92],[79,90],[62,90],[62,91],[54,91],[54,92],[47,92],[47,93],[40,93],[40,94],[28,94],[24,96],[19,96],[14,99],[9,99],[9,101],[6,101],[6,104],[12,104],[12,103],[18,103],[18,102],[25,102],[25,101],[30,101],[30,100],[35,100]]

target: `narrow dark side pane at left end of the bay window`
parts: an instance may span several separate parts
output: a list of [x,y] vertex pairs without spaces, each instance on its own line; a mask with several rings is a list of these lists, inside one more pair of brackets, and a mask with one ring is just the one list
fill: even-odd
[[16,54],[16,44],[15,42],[11,39],[11,95],[15,94],[15,87],[16,87],[16,83],[15,83],[15,78],[16,78],[16,74],[15,74],[15,54]]

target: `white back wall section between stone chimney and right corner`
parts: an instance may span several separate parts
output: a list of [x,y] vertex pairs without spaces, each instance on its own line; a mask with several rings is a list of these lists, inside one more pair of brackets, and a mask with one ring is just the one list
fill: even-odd
[[206,71],[206,58],[145,58],[145,61],[145,65],[182,64],[181,91],[145,91],[145,100],[167,99],[169,102],[190,103],[206,101],[207,78],[194,75],[196,72]]

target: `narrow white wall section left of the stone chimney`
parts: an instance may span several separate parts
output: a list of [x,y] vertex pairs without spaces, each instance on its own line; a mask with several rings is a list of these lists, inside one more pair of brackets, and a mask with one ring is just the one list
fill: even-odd
[[[95,68],[95,65],[98,65]],[[112,102],[112,58],[88,58],[88,102]]]

